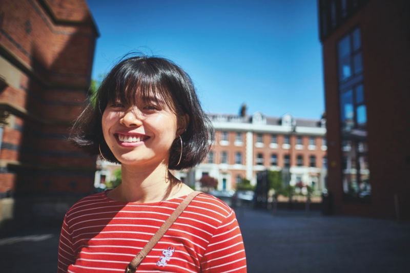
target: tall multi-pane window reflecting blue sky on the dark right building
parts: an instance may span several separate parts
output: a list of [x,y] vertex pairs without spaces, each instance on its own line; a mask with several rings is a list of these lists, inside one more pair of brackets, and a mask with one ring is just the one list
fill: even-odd
[[360,28],[338,42],[342,184],[346,200],[370,198]]

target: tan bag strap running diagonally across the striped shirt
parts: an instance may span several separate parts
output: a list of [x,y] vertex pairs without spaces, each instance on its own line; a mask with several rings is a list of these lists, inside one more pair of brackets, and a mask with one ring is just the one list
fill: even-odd
[[144,246],[144,248],[139,251],[137,256],[132,259],[131,263],[128,264],[126,273],[134,273],[137,270],[138,265],[144,260],[145,256],[151,251],[151,249],[156,245],[156,243],[162,238],[162,236],[167,232],[175,220],[181,215],[183,210],[191,203],[192,199],[195,198],[201,192],[190,193],[183,201],[178,205],[175,211],[170,215],[170,217],[161,225],[157,232],[152,236],[151,240]]

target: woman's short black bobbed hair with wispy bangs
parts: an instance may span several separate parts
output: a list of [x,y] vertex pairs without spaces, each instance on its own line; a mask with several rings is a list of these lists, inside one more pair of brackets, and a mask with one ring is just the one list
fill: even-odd
[[169,169],[183,170],[200,163],[214,141],[212,123],[202,110],[190,76],[174,62],[162,57],[127,54],[111,69],[95,94],[95,107],[89,104],[73,125],[71,143],[90,155],[100,150],[108,161],[120,163],[109,149],[103,135],[101,120],[110,101],[120,99],[130,104],[152,99],[166,104],[177,116],[189,116],[187,129],[171,145]]

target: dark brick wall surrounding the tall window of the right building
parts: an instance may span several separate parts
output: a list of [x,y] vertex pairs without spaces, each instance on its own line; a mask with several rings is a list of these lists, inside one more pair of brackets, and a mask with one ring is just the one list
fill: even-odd
[[[337,77],[338,39],[360,26],[372,200],[342,200]],[[329,190],[337,214],[410,219],[410,25],[405,0],[370,1],[323,41],[323,67],[329,145]]]

